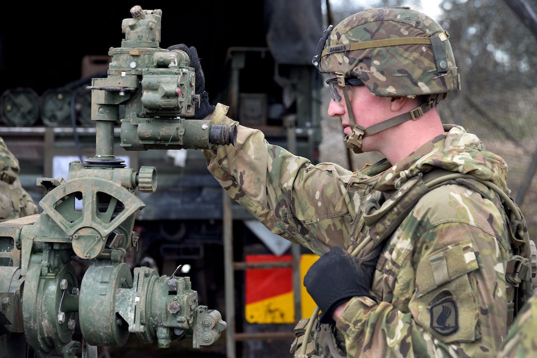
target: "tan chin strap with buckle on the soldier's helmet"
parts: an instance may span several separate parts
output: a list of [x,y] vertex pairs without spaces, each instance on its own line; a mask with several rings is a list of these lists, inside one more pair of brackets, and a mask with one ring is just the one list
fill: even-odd
[[[338,83],[339,82],[344,81],[338,81]],[[436,106],[438,102],[441,101],[441,99],[444,99],[447,96],[447,93],[429,95],[425,103],[419,105],[410,112],[399,114],[398,116],[374,124],[371,127],[364,128],[357,125],[356,121],[354,120],[354,113],[352,111],[349,94],[347,93],[347,89],[345,88],[345,83],[343,83],[341,87],[343,87],[343,95],[345,97],[345,103],[347,105],[347,113],[349,113],[349,125],[352,129],[352,134],[350,135],[350,137],[348,135],[345,136],[344,143],[347,148],[352,148],[352,151],[357,154],[364,153],[364,151],[362,151],[362,139],[364,139],[364,137],[366,137],[367,135],[379,133],[388,128],[400,125],[401,123],[404,123],[408,120],[416,120],[418,118],[421,118],[423,117],[424,113],[429,111],[431,108],[434,108],[434,106]]]

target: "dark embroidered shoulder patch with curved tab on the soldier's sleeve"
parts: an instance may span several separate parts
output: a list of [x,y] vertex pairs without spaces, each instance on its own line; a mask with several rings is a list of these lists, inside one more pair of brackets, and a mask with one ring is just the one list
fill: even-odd
[[428,306],[431,313],[430,327],[434,332],[449,335],[459,330],[459,313],[450,291],[438,293]]

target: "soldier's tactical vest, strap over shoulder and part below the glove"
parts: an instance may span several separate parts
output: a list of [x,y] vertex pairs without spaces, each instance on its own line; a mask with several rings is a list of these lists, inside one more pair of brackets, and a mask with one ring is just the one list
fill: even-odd
[[[447,184],[465,185],[493,202],[500,212],[505,212],[511,242],[511,258],[507,261],[505,273],[505,279],[509,284],[506,293],[509,298],[510,327],[518,311],[532,296],[532,277],[535,277],[537,272],[537,249],[534,242],[529,239],[526,220],[518,205],[494,183],[482,181],[469,174],[435,169],[425,175],[419,173],[409,178],[408,182],[411,183],[405,184],[407,189],[398,190],[387,201],[383,200],[382,192],[375,192],[373,198],[364,203],[363,214],[355,220],[352,227],[349,252],[355,252],[359,244],[364,241],[372,241],[373,245],[369,245],[371,249],[378,249],[401,225],[419,199],[431,190]],[[396,182],[396,188],[401,187],[401,183]],[[379,261],[382,257],[380,256]],[[383,262],[377,265],[382,266]],[[316,320],[316,327],[313,329],[314,323],[310,323],[310,320],[302,319],[295,327],[296,338],[291,346],[291,353],[295,353],[297,358],[345,357],[344,340],[337,337],[336,328],[333,325],[320,324]],[[309,341],[306,353],[303,354],[304,349],[301,346],[306,335],[309,335]]]

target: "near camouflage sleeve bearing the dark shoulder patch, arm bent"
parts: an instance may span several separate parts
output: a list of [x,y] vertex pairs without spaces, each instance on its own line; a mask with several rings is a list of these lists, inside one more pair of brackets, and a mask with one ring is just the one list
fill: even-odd
[[496,356],[508,327],[502,214],[449,187],[425,196],[436,201],[418,204],[390,238],[374,277],[390,288],[380,303],[345,306],[336,326],[347,356]]

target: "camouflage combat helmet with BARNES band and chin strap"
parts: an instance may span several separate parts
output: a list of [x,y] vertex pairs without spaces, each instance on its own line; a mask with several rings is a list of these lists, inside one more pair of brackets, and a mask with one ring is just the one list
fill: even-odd
[[[336,74],[347,108],[345,80],[348,83],[349,77],[359,78],[377,96],[428,96],[423,105],[403,117],[390,118],[375,128],[357,127],[346,140],[349,147],[360,153],[366,135],[419,118],[447,92],[459,89],[448,37],[435,20],[408,7],[367,9],[328,27],[312,63],[320,73]],[[349,115],[353,124],[352,111]]]

